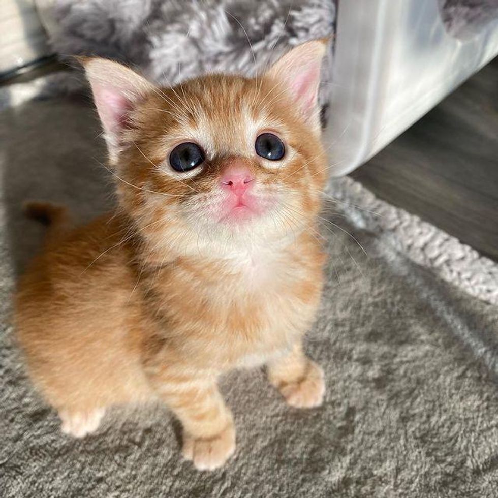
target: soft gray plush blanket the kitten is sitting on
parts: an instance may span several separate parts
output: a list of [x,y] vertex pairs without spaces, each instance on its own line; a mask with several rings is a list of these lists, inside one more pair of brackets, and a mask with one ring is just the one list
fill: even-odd
[[[110,179],[98,163],[103,142],[88,102],[62,98],[4,110],[0,134],[1,496],[498,495],[498,309],[445,283],[432,260],[415,264],[387,236],[395,225],[382,231],[385,216],[370,223],[374,213],[347,202],[372,200],[349,179],[332,182],[344,202],[328,203],[325,217],[351,231],[368,256],[325,224],[327,285],[307,341],[326,372],[323,407],[293,410],[262,371],[235,372],[223,392],[237,452],[213,473],[180,459],[179,426],[162,407],[115,409],[84,440],[61,434],[25,377],[9,325],[16,276],[43,232],[20,206],[58,201],[81,221],[111,206]],[[414,223],[389,209],[399,226]],[[417,226],[420,240],[425,229]],[[473,276],[472,266],[459,264]]]

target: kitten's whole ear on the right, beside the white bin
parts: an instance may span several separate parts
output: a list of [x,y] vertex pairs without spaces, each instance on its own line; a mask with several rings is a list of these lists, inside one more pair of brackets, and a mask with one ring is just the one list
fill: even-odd
[[313,40],[298,45],[277,60],[266,73],[266,76],[279,81],[290,92],[301,114],[318,130],[318,85],[327,42],[327,39]]

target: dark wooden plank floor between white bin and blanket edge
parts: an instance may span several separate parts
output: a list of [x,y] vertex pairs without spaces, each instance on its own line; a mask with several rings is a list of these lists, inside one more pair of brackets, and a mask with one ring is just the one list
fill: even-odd
[[351,176],[498,261],[498,58]]

